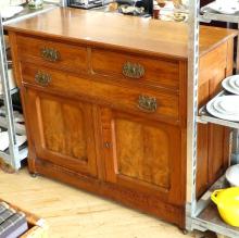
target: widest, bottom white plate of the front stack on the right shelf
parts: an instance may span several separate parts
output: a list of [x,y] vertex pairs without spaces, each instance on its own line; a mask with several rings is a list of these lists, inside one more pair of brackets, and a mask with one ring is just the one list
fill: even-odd
[[[229,97],[229,96],[224,96],[224,97]],[[236,97],[236,96],[235,96]],[[223,118],[223,120],[227,120],[227,121],[232,121],[232,122],[239,122],[239,114],[238,115],[230,115],[230,114],[226,114],[226,113],[221,113],[215,109],[214,103],[217,103],[217,100],[219,98],[216,98],[215,100],[211,100],[207,104],[206,104],[206,110],[210,114],[214,115],[215,117],[218,118]],[[239,97],[238,99],[239,100]]]

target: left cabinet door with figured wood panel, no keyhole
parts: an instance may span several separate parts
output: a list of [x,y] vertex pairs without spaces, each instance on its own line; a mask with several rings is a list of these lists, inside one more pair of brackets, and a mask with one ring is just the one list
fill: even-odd
[[28,88],[25,102],[37,159],[96,176],[91,104]]

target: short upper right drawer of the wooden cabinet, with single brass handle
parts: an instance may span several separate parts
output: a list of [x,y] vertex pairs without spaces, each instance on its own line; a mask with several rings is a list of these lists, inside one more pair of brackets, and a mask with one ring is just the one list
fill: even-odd
[[179,88],[179,62],[92,49],[92,72],[159,87]]

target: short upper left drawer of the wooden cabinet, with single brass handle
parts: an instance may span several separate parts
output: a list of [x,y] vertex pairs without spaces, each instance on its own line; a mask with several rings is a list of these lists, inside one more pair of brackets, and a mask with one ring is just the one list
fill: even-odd
[[16,43],[21,61],[40,62],[75,73],[87,71],[87,49],[84,47],[25,36],[17,36]]

